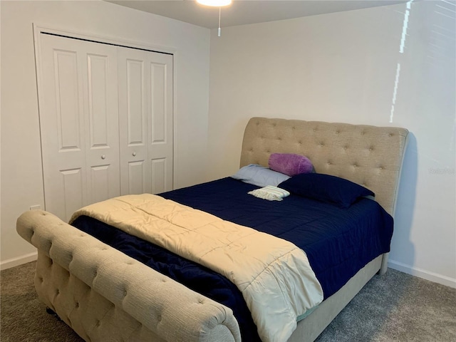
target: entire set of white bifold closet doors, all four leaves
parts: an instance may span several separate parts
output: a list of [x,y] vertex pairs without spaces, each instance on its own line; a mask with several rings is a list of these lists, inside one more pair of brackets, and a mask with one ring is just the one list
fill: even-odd
[[46,210],[172,190],[172,56],[40,34]]

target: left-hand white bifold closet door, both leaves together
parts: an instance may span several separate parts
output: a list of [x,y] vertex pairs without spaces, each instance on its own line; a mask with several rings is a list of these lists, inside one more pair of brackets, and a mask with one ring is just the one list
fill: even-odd
[[40,35],[45,209],[66,221],[120,194],[116,58],[113,46]]

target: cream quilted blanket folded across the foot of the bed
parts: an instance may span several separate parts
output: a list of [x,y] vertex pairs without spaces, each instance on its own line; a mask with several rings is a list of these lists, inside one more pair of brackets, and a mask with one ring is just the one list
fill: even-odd
[[323,300],[306,254],[294,244],[150,194],[76,211],[219,272],[242,292],[262,341],[286,341]]

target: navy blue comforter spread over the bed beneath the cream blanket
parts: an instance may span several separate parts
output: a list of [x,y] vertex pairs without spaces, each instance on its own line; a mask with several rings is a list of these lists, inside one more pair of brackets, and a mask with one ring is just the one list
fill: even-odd
[[[393,218],[371,199],[341,209],[297,195],[270,202],[247,194],[257,188],[227,177],[160,196],[293,242],[306,252],[325,299],[369,261],[389,252]],[[242,294],[224,276],[90,217],[79,217],[73,226],[229,306],[243,341],[259,341]]]

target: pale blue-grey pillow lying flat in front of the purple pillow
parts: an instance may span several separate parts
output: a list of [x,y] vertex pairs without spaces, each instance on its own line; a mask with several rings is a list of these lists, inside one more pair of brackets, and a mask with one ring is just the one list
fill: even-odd
[[242,182],[257,185],[257,187],[266,187],[268,185],[276,187],[281,182],[288,180],[290,176],[273,171],[268,167],[250,164],[241,167],[239,171],[231,177],[235,180],[242,180]]

